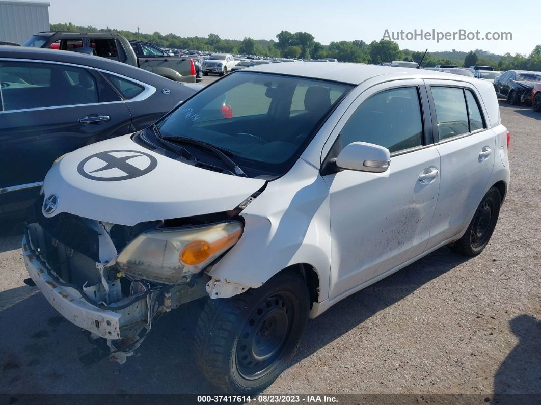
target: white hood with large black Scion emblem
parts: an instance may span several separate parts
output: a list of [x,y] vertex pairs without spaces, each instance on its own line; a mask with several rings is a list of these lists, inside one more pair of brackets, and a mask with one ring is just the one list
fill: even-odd
[[70,213],[132,226],[231,210],[263,184],[173,160],[125,135],[70,152],[55,164],[45,176],[42,210],[46,217]]

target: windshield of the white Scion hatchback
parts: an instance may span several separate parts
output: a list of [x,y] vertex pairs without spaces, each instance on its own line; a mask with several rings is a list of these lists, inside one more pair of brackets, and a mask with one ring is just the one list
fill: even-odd
[[157,123],[231,152],[250,177],[285,173],[312,133],[353,86],[239,71],[213,83]]

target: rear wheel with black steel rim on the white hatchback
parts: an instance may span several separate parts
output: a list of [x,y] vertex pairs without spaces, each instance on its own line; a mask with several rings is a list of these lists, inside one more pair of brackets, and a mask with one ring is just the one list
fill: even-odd
[[500,213],[502,196],[492,187],[477,207],[466,233],[449,247],[465,256],[477,256],[489,244]]

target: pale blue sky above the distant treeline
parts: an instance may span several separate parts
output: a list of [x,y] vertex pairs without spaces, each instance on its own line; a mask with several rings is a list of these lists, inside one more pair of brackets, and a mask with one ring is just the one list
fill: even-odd
[[[512,41],[397,41],[400,48],[444,51],[484,49],[497,54],[529,54],[541,44],[541,2],[528,1],[515,7],[510,0],[49,0],[51,23],[107,26],[142,32],[160,31],[180,36],[275,39],[281,30],[307,31],[324,44],[331,41],[379,40],[389,31],[512,32]],[[521,13],[513,15],[513,9]],[[529,22],[529,17],[534,18]]]

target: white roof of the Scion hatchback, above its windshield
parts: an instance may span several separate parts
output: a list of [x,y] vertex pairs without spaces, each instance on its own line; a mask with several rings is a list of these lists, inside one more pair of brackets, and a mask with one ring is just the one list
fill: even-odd
[[[457,75],[433,70],[361,65],[358,63],[269,63],[250,66],[242,69],[242,71],[301,76],[355,85],[375,76],[387,76],[386,80],[406,78],[459,79]],[[460,79],[469,79],[469,77],[460,76]]]

